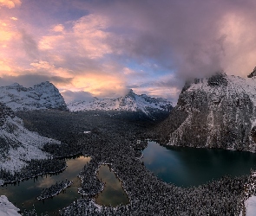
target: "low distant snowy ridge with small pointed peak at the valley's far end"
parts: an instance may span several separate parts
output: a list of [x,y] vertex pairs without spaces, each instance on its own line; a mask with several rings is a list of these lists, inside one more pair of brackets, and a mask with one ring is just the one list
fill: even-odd
[[172,103],[163,98],[151,98],[145,94],[137,95],[130,90],[124,97],[72,102],[68,107],[70,111],[142,111],[149,115],[152,111],[170,111]]

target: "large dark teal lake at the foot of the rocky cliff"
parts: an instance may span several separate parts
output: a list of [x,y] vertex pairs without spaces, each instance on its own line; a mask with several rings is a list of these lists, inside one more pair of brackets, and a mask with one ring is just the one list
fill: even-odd
[[256,154],[225,149],[165,147],[148,142],[144,165],[162,181],[179,187],[199,186],[224,175],[250,174],[256,169]]

